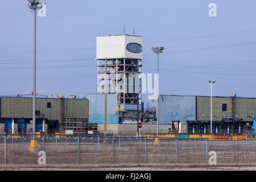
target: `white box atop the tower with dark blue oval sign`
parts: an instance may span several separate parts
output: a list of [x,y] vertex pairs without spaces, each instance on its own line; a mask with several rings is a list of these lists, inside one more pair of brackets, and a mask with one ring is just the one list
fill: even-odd
[[96,59],[142,59],[142,36],[97,36]]

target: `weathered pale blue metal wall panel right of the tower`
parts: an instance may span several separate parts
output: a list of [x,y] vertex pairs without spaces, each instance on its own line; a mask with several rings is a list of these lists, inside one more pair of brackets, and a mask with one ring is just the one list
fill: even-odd
[[159,95],[159,124],[170,124],[171,121],[196,121],[196,96]]

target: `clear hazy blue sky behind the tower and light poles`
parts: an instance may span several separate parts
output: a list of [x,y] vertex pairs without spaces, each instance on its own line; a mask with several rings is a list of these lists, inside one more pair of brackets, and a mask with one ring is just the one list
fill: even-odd
[[[217,16],[208,7],[216,3]],[[143,37],[143,73],[156,73],[159,94],[256,97],[256,1],[46,0],[37,18],[36,93],[96,93],[96,37]],[[0,95],[30,94],[33,13],[25,0],[0,4]],[[142,101],[148,100],[147,94]]]

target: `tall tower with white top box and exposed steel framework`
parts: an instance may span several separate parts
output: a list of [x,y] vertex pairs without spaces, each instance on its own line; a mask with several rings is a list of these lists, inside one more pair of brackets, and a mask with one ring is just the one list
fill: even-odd
[[142,36],[98,36],[96,59],[97,93],[105,93],[106,60],[107,92],[119,93],[119,110],[137,118],[137,108],[142,108]]

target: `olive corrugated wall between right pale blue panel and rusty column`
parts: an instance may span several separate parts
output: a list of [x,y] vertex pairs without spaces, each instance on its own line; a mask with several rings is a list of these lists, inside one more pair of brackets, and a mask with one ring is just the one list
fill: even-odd
[[[226,104],[226,111],[222,111]],[[232,118],[232,98],[212,97],[212,121],[222,121],[222,118]],[[197,97],[197,121],[210,121],[210,97]]]

